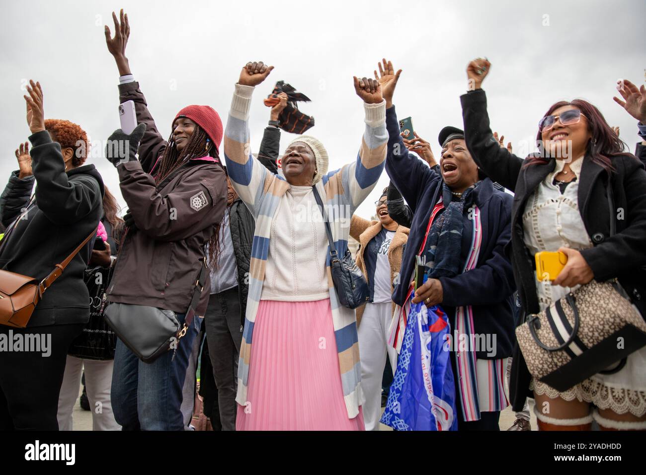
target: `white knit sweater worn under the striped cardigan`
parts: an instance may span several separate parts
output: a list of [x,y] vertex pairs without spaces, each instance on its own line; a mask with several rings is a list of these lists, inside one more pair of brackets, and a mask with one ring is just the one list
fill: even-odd
[[291,186],[271,223],[261,300],[288,302],[329,298],[328,238],[311,186]]

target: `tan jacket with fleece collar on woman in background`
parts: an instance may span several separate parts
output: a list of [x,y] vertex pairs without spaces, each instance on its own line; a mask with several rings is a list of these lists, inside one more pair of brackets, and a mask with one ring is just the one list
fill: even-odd
[[[379,221],[369,221],[357,215],[352,215],[350,221],[350,236],[359,241],[361,247],[357,253],[357,266],[361,269],[368,280],[368,273],[366,271],[366,261],[364,260],[364,251],[370,240],[379,234],[382,226]],[[408,227],[399,226],[395,229],[395,237],[393,237],[388,249],[388,262],[390,262],[390,286],[393,287],[395,278],[399,278],[399,269],[402,266],[402,256],[404,255],[404,246],[408,240]],[[361,322],[366,306],[362,305],[357,308],[357,327]],[[393,302],[393,312],[395,311],[395,303]]]

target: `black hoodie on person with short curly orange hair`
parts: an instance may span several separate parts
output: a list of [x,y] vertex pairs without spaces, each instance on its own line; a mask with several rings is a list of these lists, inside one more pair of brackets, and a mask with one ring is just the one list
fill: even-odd
[[[103,215],[104,189],[94,165],[65,172],[61,146],[47,131],[29,140],[34,174],[21,179],[14,171],[0,196],[0,221],[7,228],[26,211],[0,241],[0,269],[41,280],[96,230]],[[37,187],[31,198],[34,182]],[[93,245],[90,239],[45,291],[28,327],[88,321],[89,294],[83,271]]]

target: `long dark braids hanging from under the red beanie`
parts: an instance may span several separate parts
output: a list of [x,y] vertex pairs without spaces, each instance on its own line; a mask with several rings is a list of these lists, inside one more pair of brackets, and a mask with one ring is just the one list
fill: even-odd
[[[161,156],[158,171],[155,174],[155,184],[157,185],[163,182],[163,180],[183,164],[191,160],[191,158],[200,158],[205,155],[219,158],[218,149],[213,145],[211,138],[209,138],[204,129],[199,125],[195,124],[193,135],[191,135],[189,143],[186,144],[182,151],[177,150],[173,132],[174,127],[173,131],[171,131],[171,136],[169,137],[163,155]],[[222,222],[219,222],[214,226],[213,235],[207,244],[207,263],[211,269],[216,268],[218,256],[220,255],[220,226],[222,226]]]

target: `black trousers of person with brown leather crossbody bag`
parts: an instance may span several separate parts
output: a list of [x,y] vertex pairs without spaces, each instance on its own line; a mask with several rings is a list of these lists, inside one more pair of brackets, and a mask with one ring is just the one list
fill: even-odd
[[[0,430],[58,430],[56,413],[67,351],[84,327],[83,323],[0,325]],[[17,346],[19,341],[22,348]]]

